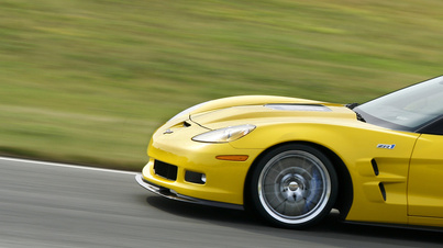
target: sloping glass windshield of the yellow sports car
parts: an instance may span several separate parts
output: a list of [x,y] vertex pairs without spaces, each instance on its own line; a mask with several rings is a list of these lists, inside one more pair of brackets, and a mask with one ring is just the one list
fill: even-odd
[[417,131],[443,115],[443,76],[386,94],[354,111],[370,124]]

